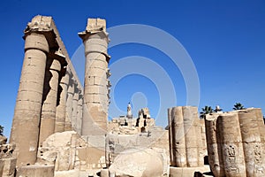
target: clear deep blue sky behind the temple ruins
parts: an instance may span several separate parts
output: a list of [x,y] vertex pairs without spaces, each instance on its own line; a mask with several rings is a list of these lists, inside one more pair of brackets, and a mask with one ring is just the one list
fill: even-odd
[[[37,14],[53,17],[70,56],[82,44],[77,34],[85,29],[87,18],[107,19],[108,27],[143,24],[162,29],[174,36],[193,60],[200,80],[199,110],[204,105],[218,104],[224,111],[231,111],[233,104],[240,102],[245,107],[260,107],[264,113],[265,2],[262,0],[4,1],[0,5],[0,124],[4,126],[4,135],[10,134],[19,88],[23,30]],[[163,52],[139,43],[115,46],[109,52],[110,65],[121,58],[140,56],[162,66],[177,96],[176,104],[167,105],[186,105],[183,76]],[[148,68],[148,71],[153,70]],[[147,105],[155,117],[161,100],[159,89],[148,76],[128,75],[115,88],[112,94],[122,112],[127,102],[134,100],[134,115],[138,107]],[[164,116],[159,119],[164,126],[166,110],[162,112]]]

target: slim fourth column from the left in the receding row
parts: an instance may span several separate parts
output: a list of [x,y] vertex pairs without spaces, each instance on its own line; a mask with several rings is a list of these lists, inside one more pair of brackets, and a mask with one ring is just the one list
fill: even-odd
[[69,85],[67,89],[67,99],[66,99],[66,112],[65,112],[65,124],[64,131],[72,130],[72,97],[74,93],[74,84],[72,80],[72,73],[69,76]]

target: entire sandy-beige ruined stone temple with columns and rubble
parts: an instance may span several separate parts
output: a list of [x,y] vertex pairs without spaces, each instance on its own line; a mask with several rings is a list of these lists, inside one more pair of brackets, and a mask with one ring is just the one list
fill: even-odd
[[38,15],[27,24],[9,143],[0,136],[0,176],[265,175],[261,109],[216,109],[199,119],[197,107],[177,106],[168,109],[163,128],[148,108],[133,117],[128,104],[126,115],[109,121],[105,19],[87,19],[78,35],[85,47],[84,83],[53,19]]

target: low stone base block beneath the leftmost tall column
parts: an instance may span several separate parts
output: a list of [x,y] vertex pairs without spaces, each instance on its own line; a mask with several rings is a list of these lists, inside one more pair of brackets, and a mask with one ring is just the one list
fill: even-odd
[[19,167],[18,177],[54,177],[54,165],[24,165]]

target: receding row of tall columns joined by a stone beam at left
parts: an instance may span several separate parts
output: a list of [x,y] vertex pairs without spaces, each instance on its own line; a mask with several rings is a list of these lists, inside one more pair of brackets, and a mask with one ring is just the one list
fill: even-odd
[[34,165],[38,147],[49,135],[81,132],[82,89],[74,78],[50,27],[36,16],[25,30],[25,57],[11,127],[17,165]]

